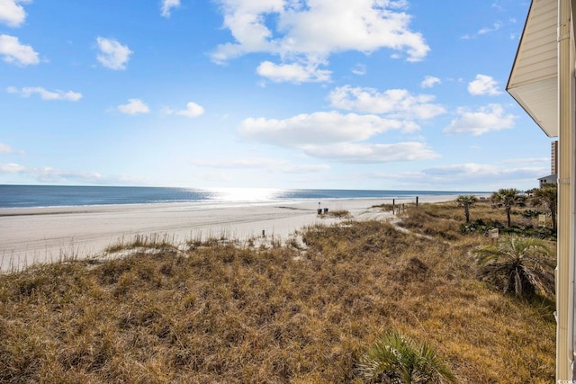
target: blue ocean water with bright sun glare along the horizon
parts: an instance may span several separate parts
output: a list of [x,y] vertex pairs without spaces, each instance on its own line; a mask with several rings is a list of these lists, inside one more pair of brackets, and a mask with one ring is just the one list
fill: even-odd
[[0,185],[0,209],[166,202],[384,199],[479,193],[486,192]]

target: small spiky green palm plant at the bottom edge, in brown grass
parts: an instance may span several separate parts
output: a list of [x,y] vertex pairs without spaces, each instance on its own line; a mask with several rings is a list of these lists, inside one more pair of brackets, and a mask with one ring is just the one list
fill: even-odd
[[365,353],[358,373],[371,383],[454,383],[455,375],[424,342],[415,344],[397,332],[388,332]]

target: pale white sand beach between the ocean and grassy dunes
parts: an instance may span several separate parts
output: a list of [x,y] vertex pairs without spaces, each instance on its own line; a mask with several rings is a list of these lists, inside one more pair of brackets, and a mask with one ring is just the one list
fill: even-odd
[[[456,196],[419,197],[419,202],[451,201]],[[414,202],[397,198],[396,204]],[[353,219],[386,219],[392,213],[371,208],[392,204],[387,199],[320,201],[321,208],[347,210]],[[102,255],[106,246],[130,242],[137,235],[167,237],[175,244],[190,239],[227,237],[284,240],[317,223],[319,201],[253,203],[168,203],[0,210],[0,271],[33,263]]]

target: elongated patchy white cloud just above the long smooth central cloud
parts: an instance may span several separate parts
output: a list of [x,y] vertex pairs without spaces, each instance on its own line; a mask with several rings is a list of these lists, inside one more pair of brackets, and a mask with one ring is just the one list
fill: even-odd
[[405,89],[389,89],[380,93],[374,88],[345,85],[334,89],[329,94],[329,100],[334,108],[341,110],[388,114],[392,118],[409,120],[428,120],[446,113],[443,106],[432,103],[435,96],[413,95]]

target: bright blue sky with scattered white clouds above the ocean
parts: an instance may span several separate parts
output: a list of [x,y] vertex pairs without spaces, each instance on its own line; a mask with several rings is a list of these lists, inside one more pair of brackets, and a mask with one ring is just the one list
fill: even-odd
[[521,190],[527,0],[0,0],[0,183]]

